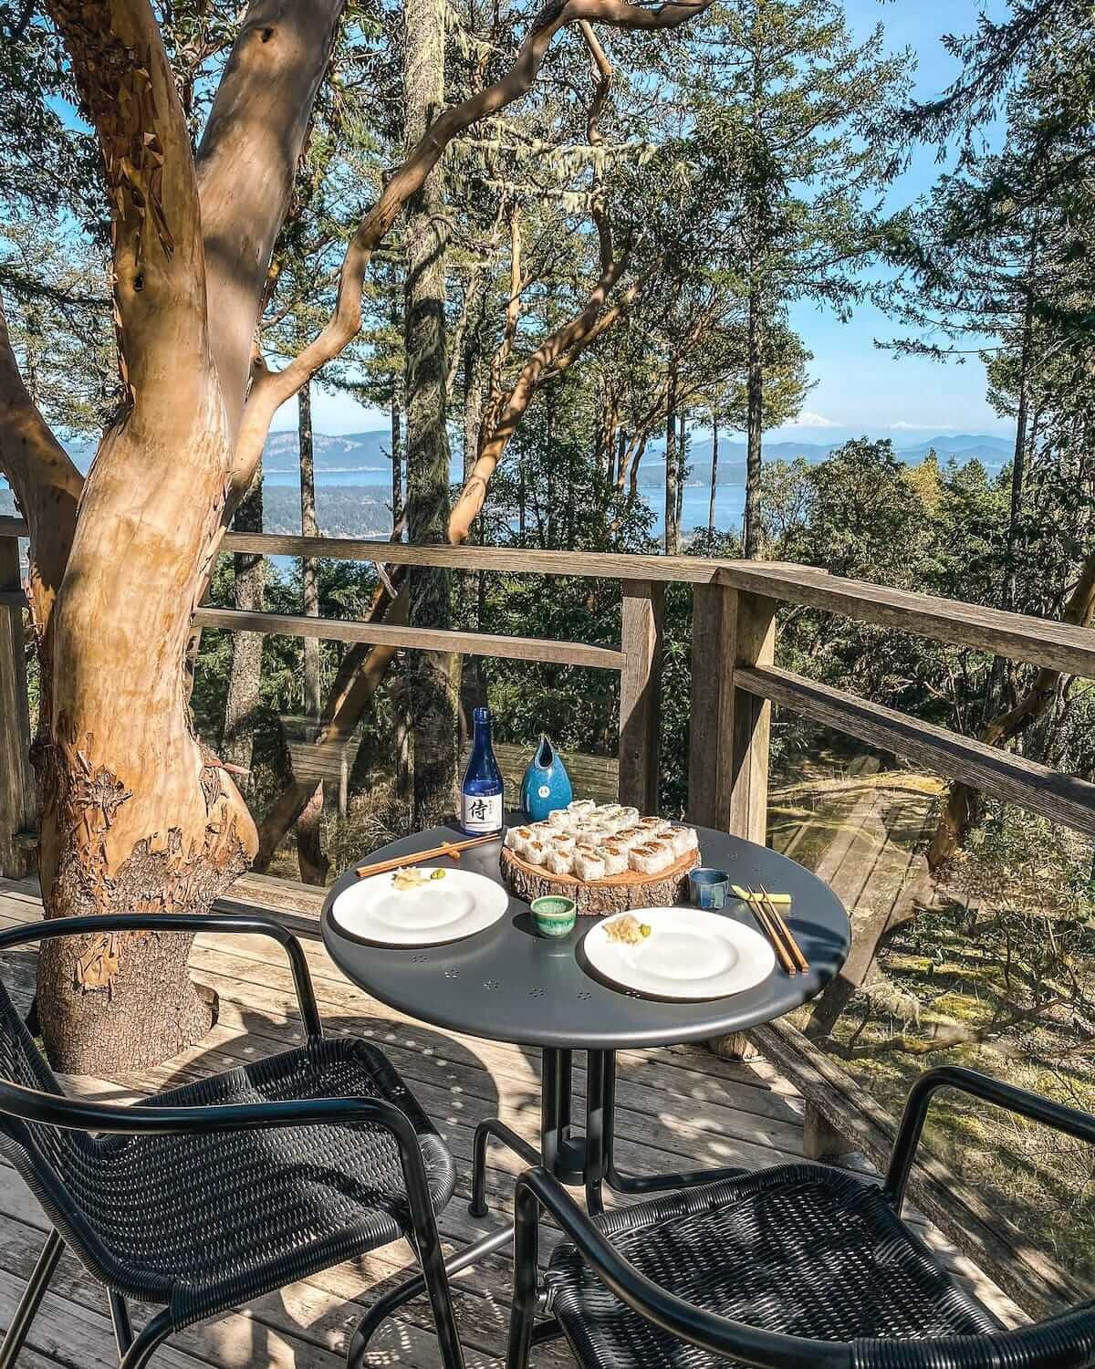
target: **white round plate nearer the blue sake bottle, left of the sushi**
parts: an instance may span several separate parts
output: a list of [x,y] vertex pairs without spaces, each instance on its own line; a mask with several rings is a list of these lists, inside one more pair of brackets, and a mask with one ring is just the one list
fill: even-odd
[[345,890],[331,905],[342,931],[387,946],[434,946],[459,941],[497,923],[509,906],[501,884],[467,869],[445,869],[445,879],[430,879],[437,865],[416,865],[426,875],[420,888],[396,888],[394,871],[370,875]]

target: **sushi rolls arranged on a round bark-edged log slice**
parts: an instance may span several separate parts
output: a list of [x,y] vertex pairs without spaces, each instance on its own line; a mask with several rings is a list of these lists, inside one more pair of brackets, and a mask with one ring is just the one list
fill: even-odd
[[584,916],[679,904],[698,864],[695,828],[589,799],[556,809],[543,823],[508,828],[501,854],[502,875],[519,898],[565,894]]

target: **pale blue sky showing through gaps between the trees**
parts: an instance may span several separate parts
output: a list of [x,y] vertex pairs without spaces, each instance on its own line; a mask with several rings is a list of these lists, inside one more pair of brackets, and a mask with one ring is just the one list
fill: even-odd
[[[970,0],[846,0],[849,23],[865,37],[876,23],[886,30],[887,47],[905,47],[917,56],[914,92],[918,97],[942,92],[958,75],[958,66],[943,49],[944,33],[970,33],[977,15],[1006,11],[1002,0],[975,4]],[[907,203],[928,190],[939,174],[933,148],[921,148],[895,183],[891,203]],[[828,438],[868,433],[891,435],[901,444],[933,433],[995,433],[1006,435],[1012,424],[999,419],[984,400],[984,368],[976,356],[964,366],[916,357],[895,357],[875,346],[898,329],[879,309],[864,305],[849,323],[839,323],[810,303],[793,308],[791,322],[813,353],[810,376],[816,382],[806,397],[799,422],[775,430],[772,438]],[[316,427],[324,433],[352,433],[386,426],[387,418],[363,408],[345,396],[318,393],[313,400]],[[296,402],[281,411],[274,426],[296,424]]]

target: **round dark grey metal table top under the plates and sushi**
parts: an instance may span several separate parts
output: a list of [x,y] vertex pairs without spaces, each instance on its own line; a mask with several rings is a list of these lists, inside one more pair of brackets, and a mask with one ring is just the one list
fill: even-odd
[[[786,856],[725,832],[697,828],[705,865],[730,872],[731,882],[791,894],[787,921],[810,964],[801,975],[776,965],[764,983],[745,993],[702,1002],[643,998],[595,976],[582,941],[600,919],[579,917],[568,936],[538,936],[527,904],[511,895],[505,916],[486,931],[441,946],[381,946],[342,932],[331,904],[357,879],[348,871],[323,905],[323,941],[342,973],[365,993],[417,1021],[468,1036],[564,1050],[626,1050],[671,1046],[745,1031],[773,1021],[819,994],[847,958],[851,930],[843,904],[820,879]],[[461,841],[454,827],[391,842],[365,860]],[[501,841],[461,854],[459,868],[502,884]],[[431,865],[453,864],[431,860]],[[756,927],[740,901],[724,916]]]

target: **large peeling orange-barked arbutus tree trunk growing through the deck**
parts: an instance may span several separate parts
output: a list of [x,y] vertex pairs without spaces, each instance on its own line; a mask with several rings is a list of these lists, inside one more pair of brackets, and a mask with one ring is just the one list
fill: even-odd
[[[445,107],[385,179],[349,238],[331,318],[279,371],[257,353],[256,327],[344,0],[252,0],[197,153],[149,0],[47,8],[103,155],[126,401],[81,478],[0,322],[0,471],[30,528],[41,668],[42,899],[48,917],[203,910],[246,868],[256,831],[193,732],[185,652],[274,413],[359,333],[372,252],[446,145],[527,93],[560,29],[587,19],[669,29],[705,0],[546,7],[501,78]],[[405,604],[397,591],[389,620]],[[337,682],[333,741],[391,654],[374,649]],[[209,1006],[190,984],[188,953],[188,938],[155,932],[49,943],[38,1016],[55,1064],[101,1075],[198,1039]]]

